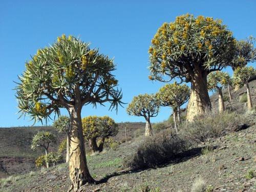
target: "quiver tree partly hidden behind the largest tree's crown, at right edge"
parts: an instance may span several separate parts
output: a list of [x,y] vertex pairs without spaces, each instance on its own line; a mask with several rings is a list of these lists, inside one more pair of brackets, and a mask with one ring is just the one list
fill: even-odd
[[[248,62],[254,62],[256,60],[256,48],[254,48],[254,43],[255,38],[252,36],[246,40],[236,41],[233,59],[229,63],[233,71],[245,67]],[[239,84],[237,84],[234,90],[237,91],[239,88]]]

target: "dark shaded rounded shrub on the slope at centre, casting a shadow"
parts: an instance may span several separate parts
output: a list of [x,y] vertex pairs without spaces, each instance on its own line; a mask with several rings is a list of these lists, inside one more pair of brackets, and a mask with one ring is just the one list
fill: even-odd
[[144,138],[137,152],[124,159],[124,166],[132,169],[156,167],[177,158],[190,144],[178,137],[162,131],[152,137]]

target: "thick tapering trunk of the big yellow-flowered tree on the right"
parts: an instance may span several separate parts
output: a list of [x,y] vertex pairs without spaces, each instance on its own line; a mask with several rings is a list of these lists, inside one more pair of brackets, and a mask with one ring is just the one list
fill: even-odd
[[193,121],[195,116],[211,109],[207,91],[207,72],[197,70],[191,78],[191,94],[187,106],[187,121]]

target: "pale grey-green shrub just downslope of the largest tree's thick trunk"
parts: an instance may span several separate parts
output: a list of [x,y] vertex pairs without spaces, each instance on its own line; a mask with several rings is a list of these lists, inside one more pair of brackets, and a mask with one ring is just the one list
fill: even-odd
[[235,112],[208,112],[198,116],[193,122],[180,125],[180,134],[190,141],[203,142],[209,138],[225,135],[233,127],[245,123],[246,118]]

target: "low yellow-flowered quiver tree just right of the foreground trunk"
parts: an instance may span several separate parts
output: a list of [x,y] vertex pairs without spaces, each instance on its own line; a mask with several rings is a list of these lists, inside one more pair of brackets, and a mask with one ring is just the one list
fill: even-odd
[[[89,141],[91,151],[102,152],[105,139],[116,136],[118,125],[108,117],[88,116],[82,119],[83,136]],[[97,139],[101,138],[99,146]]]

